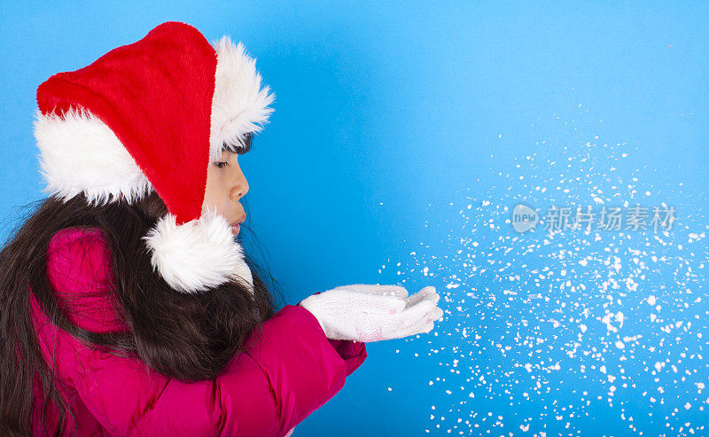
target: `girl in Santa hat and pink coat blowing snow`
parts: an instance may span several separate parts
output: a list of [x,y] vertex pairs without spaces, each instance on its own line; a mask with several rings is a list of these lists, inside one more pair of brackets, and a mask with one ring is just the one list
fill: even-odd
[[432,330],[433,287],[275,312],[238,167],[273,100],[241,43],[180,22],[39,86],[51,197],[0,252],[0,434],[289,435],[363,342]]

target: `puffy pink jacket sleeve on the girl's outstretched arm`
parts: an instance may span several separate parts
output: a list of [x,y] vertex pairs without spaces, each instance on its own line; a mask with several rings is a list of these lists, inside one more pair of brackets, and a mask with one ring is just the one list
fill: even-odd
[[[65,259],[74,255],[64,252]],[[140,360],[86,347],[38,317],[45,353],[52,353],[47,340],[58,340],[61,378],[119,435],[283,436],[338,393],[367,356],[363,343],[327,339],[307,309],[287,305],[251,332],[251,346],[218,378],[184,383]]]

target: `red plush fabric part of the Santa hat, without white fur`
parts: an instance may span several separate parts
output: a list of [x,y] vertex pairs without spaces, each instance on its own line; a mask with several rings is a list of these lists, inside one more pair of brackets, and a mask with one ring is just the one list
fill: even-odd
[[199,30],[168,21],[89,66],[52,75],[37,88],[37,105],[44,115],[82,107],[104,121],[179,225],[199,218],[204,200],[216,62]]

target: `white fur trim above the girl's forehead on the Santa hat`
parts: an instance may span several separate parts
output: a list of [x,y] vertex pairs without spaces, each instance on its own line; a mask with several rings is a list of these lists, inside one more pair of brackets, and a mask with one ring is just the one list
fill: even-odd
[[210,161],[219,158],[223,144],[244,147],[246,134],[260,132],[260,125],[268,122],[273,112],[268,106],[276,98],[269,94],[268,86],[261,89],[256,59],[249,58],[242,43],[235,46],[230,37],[224,35],[212,45],[217,63],[209,136]]

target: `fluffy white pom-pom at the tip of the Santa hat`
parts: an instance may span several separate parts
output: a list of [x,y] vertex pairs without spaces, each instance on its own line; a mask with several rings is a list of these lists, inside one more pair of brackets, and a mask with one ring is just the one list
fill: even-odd
[[243,280],[253,288],[241,245],[222,215],[207,208],[199,219],[175,223],[175,215],[164,215],[144,237],[152,267],[168,285],[182,293],[197,293]]

